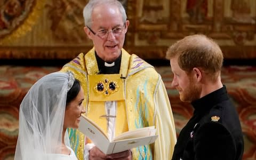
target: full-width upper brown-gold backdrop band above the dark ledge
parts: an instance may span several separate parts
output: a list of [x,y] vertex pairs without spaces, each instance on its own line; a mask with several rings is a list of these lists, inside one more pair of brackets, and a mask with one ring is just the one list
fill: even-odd
[[[256,58],[255,0],[123,0],[130,26],[124,48],[164,59],[167,47],[205,34],[226,59]],[[0,2],[0,58],[71,59],[92,42],[83,31],[87,0]]]

